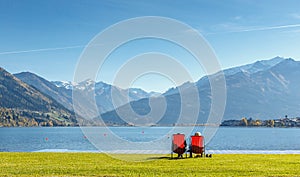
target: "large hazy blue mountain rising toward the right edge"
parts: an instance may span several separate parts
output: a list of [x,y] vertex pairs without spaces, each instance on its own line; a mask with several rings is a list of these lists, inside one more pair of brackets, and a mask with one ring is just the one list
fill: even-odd
[[[300,62],[277,57],[269,61],[256,62],[247,67],[248,70],[240,69],[245,68],[242,66],[239,68],[239,72],[225,72],[227,103],[224,120],[240,119],[242,117],[275,119],[284,115],[292,117],[300,115]],[[227,71],[230,71],[230,69]],[[212,75],[211,78],[217,80],[217,74]],[[209,80],[207,77],[203,77],[196,83],[186,83],[180,87],[184,92],[189,92],[194,86],[199,91],[200,99],[198,123],[204,123],[211,106]],[[167,109],[158,124],[171,125],[176,123],[179,116],[180,94],[178,88],[174,88],[163,95],[167,101]],[[187,96],[193,97],[193,95]],[[155,102],[158,103],[155,98],[152,101],[154,104]],[[149,112],[148,103],[148,99],[143,99],[131,102],[130,105],[136,113],[147,115]],[[118,108],[117,111],[124,113],[126,117],[127,113],[124,109],[127,107],[124,105]],[[191,110],[197,109],[195,106],[188,104],[183,104],[183,107],[189,107]],[[115,110],[102,114],[102,118],[105,121],[122,120]]]

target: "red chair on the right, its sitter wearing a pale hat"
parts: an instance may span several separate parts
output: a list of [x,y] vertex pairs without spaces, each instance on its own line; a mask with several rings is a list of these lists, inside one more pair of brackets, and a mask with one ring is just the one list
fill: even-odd
[[191,136],[190,157],[193,157],[193,153],[200,157],[205,156],[204,136]]

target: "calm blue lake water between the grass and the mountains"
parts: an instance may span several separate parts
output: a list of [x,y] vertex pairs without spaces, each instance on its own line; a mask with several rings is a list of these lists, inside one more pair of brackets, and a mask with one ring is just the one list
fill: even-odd
[[[116,135],[133,142],[165,136],[170,127],[111,127]],[[201,129],[201,128],[199,128]],[[104,131],[107,129],[103,129]],[[99,136],[105,138],[106,133]],[[108,137],[107,137],[108,138]],[[169,138],[169,137],[168,137]],[[171,144],[171,139],[169,139]],[[221,127],[207,143],[208,150],[300,150],[299,128]],[[0,128],[0,151],[99,151],[80,127]]]

